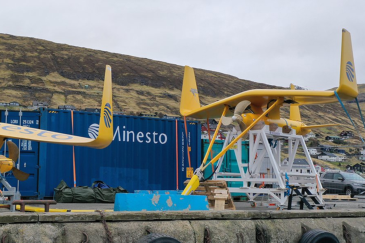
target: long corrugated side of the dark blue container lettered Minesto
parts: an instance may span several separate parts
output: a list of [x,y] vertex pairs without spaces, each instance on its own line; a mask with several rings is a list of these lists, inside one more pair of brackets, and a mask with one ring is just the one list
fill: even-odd
[[[74,135],[93,136],[92,126],[99,124],[99,113],[74,111]],[[71,112],[66,110],[43,111],[42,129],[72,134]],[[76,184],[91,186],[103,180],[111,187],[121,186],[134,190],[183,189],[188,167],[184,121],[152,117],[113,115],[114,140],[105,149],[75,147]],[[46,126],[46,128],[45,128]],[[188,121],[191,146],[191,165],[200,163],[201,126]],[[178,164],[176,166],[176,137]],[[42,147],[41,147],[42,148]],[[61,180],[73,186],[72,146],[47,144],[45,158],[45,184],[41,195],[53,196],[53,188]],[[41,161],[41,159],[40,159]],[[178,171],[178,183],[176,172]],[[41,182],[42,178],[39,179]]]

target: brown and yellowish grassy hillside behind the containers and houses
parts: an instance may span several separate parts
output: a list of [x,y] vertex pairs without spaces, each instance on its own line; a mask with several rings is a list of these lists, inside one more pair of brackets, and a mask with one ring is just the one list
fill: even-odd
[[[183,66],[8,34],[0,34],[0,101],[16,101],[21,106],[43,101],[51,108],[65,104],[78,109],[99,107],[105,64],[112,66],[114,110],[126,114],[179,114]],[[195,74],[203,105],[245,90],[283,89],[199,68],[195,68]],[[358,88],[364,109],[365,85]],[[345,106],[364,136],[356,103],[345,102]],[[287,107],[281,110],[283,116],[289,116]],[[323,138],[352,130],[357,137],[349,144],[361,142],[338,103],[301,106],[301,117],[307,125],[343,124],[316,130]]]

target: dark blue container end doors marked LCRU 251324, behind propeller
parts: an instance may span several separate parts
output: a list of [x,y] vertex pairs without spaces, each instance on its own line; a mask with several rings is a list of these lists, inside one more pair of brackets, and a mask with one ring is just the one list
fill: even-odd
[[[30,128],[39,128],[39,113],[31,111],[23,111],[20,117],[19,111],[8,111],[8,115],[5,111],[1,111],[1,122],[8,123],[11,125],[21,125]],[[4,128],[4,126],[3,126]],[[8,139],[13,141],[20,149],[20,156],[16,164],[19,163],[19,169],[30,176],[25,181],[19,181],[19,191],[23,197],[35,197],[38,196],[37,190],[37,180],[38,180],[38,146],[39,142],[19,140],[18,139]],[[8,141],[7,140],[7,141]],[[3,145],[0,154],[4,154]],[[5,156],[8,157],[8,148],[6,147]],[[18,180],[15,179],[11,171],[5,173],[5,178],[12,187],[18,185]],[[17,188],[18,189],[18,188]]]

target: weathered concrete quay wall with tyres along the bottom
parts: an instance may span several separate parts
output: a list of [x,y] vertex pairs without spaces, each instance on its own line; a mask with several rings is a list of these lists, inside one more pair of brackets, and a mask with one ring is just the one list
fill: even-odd
[[[365,242],[365,209],[104,212],[103,216],[115,243],[137,242],[147,232],[167,234],[182,243],[203,243],[204,234],[212,243],[297,243],[303,232],[312,229],[331,232],[342,243]],[[102,222],[99,212],[1,213],[0,240],[108,242]]]

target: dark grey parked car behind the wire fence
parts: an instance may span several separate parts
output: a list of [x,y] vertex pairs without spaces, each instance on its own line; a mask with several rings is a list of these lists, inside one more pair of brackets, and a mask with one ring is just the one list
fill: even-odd
[[365,179],[356,173],[326,172],[320,176],[322,187],[326,193],[344,194],[353,197],[365,192]]

